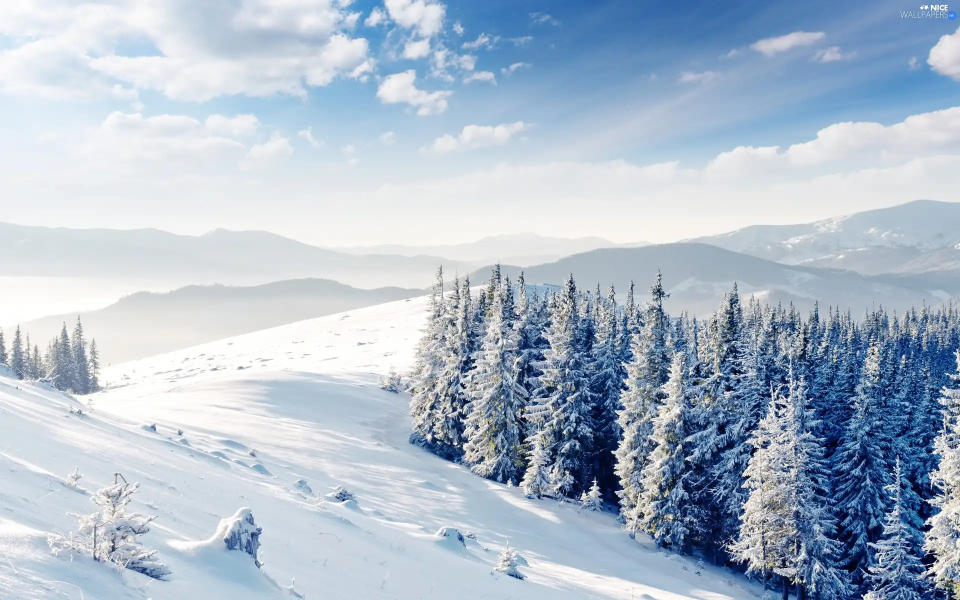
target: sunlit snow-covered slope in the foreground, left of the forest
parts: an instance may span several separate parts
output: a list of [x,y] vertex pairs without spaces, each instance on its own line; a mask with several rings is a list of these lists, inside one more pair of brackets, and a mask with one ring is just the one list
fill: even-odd
[[[0,598],[291,598],[293,578],[316,599],[757,595],[728,571],[631,540],[612,514],[526,499],[407,444],[408,398],[375,380],[409,365],[424,305],[401,300],[116,366],[105,373],[111,389],[84,398],[91,407],[0,373]],[[63,485],[74,468],[90,491],[114,471],[141,482],[133,508],[159,515],[144,540],[170,581],[50,553],[46,532],[67,531],[66,513],[93,506]],[[356,502],[321,503],[336,486]],[[261,570],[216,540],[191,543],[242,507],[263,528]],[[443,527],[475,539],[435,535]],[[524,581],[492,570],[507,542],[529,564]]]

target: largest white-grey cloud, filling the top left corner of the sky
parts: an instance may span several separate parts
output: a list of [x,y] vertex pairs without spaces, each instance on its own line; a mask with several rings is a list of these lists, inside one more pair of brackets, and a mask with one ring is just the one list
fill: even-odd
[[[190,101],[224,94],[302,97],[307,87],[348,76],[368,59],[367,40],[343,31],[356,17],[331,0],[17,7],[0,13],[0,34],[22,40],[0,53],[0,81],[8,92],[135,99],[132,86]],[[156,54],[118,53],[121,41],[154,47]]]

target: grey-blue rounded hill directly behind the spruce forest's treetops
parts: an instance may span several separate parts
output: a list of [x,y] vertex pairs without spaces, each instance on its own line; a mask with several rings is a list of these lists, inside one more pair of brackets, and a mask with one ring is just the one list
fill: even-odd
[[[658,269],[670,293],[665,304],[674,313],[688,310],[707,314],[718,305],[734,282],[745,297],[756,296],[771,303],[792,301],[804,310],[817,300],[823,307],[851,308],[854,314],[874,304],[898,310],[920,306],[924,300],[936,304],[960,293],[960,279],[947,276],[861,276],[852,272],[784,265],[694,243],[595,250],[523,271],[527,283],[558,284],[570,273],[578,285],[591,290],[597,282],[604,290],[613,283],[622,299],[631,280],[640,292],[645,292]],[[510,276],[516,276],[521,269],[513,266],[504,270]],[[489,273],[489,268],[481,269],[474,272],[471,280],[480,282]]]

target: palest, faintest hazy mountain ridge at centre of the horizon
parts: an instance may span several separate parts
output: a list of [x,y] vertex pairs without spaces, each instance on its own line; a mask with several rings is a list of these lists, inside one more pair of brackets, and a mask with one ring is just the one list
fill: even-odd
[[570,254],[588,252],[598,248],[633,248],[637,246],[647,246],[648,244],[648,242],[615,244],[602,237],[578,237],[569,239],[546,237],[536,233],[515,233],[509,235],[492,235],[477,240],[476,242],[446,246],[402,246],[386,244],[356,248],[337,248],[333,250],[355,254],[400,254],[402,256],[426,254],[477,264],[490,264],[499,261],[506,264],[526,266],[550,262]]

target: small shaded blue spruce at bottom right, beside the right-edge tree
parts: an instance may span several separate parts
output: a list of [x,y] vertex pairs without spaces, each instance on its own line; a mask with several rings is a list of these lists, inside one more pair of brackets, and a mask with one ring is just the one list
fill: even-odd
[[864,600],[922,600],[927,586],[924,579],[923,552],[917,544],[917,532],[903,515],[902,491],[910,482],[900,470],[900,458],[894,470],[891,509],[883,524],[883,537],[872,543],[876,564],[870,567]]

